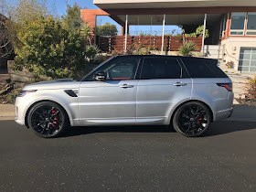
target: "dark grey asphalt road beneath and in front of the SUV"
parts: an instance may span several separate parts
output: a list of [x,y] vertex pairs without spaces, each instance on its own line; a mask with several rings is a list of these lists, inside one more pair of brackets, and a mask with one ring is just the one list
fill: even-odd
[[42,139],[1,121],[0,191],[255,191],[255,138],[255,107],[237,107],[199,138],[133,126]]

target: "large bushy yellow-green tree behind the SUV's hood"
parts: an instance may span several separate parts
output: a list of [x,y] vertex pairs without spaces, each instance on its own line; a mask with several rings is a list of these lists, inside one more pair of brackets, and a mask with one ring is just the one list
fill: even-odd
[[86,45],[79,30],[69,31],[53,16],[37,18],[22,27],[17,37],[23,46],[16,47],[14,67],[28,69],[36,77],[71,77],[97,53],[96,48]]

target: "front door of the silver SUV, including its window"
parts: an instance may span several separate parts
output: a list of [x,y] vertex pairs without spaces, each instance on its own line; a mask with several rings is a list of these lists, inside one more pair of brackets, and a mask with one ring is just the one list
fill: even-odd
[[80,83],[80,124],[134,124],[136,91],[134,80],[140,58],[117,57],[103,64],[106,80],[93,80],[92,72]]

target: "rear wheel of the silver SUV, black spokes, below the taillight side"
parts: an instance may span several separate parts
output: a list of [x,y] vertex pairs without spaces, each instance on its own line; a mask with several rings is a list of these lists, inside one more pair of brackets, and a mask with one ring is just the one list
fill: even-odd
[[212,114],[208,107],[199,101],[191,101],[180,106],[173,117],[173,126],[178,133],[187,137],[201,136],[208,130]]

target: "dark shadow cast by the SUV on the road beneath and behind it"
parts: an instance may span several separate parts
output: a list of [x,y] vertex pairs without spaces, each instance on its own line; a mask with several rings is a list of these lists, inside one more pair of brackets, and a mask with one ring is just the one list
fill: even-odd
[[[220,121],[212,123],[203,137],[216,136],[256,129],[255,122]],[[90,126],[71,127],[61,137],[78,136],[91,133],[176,133],[174,128],[168,126]]]

